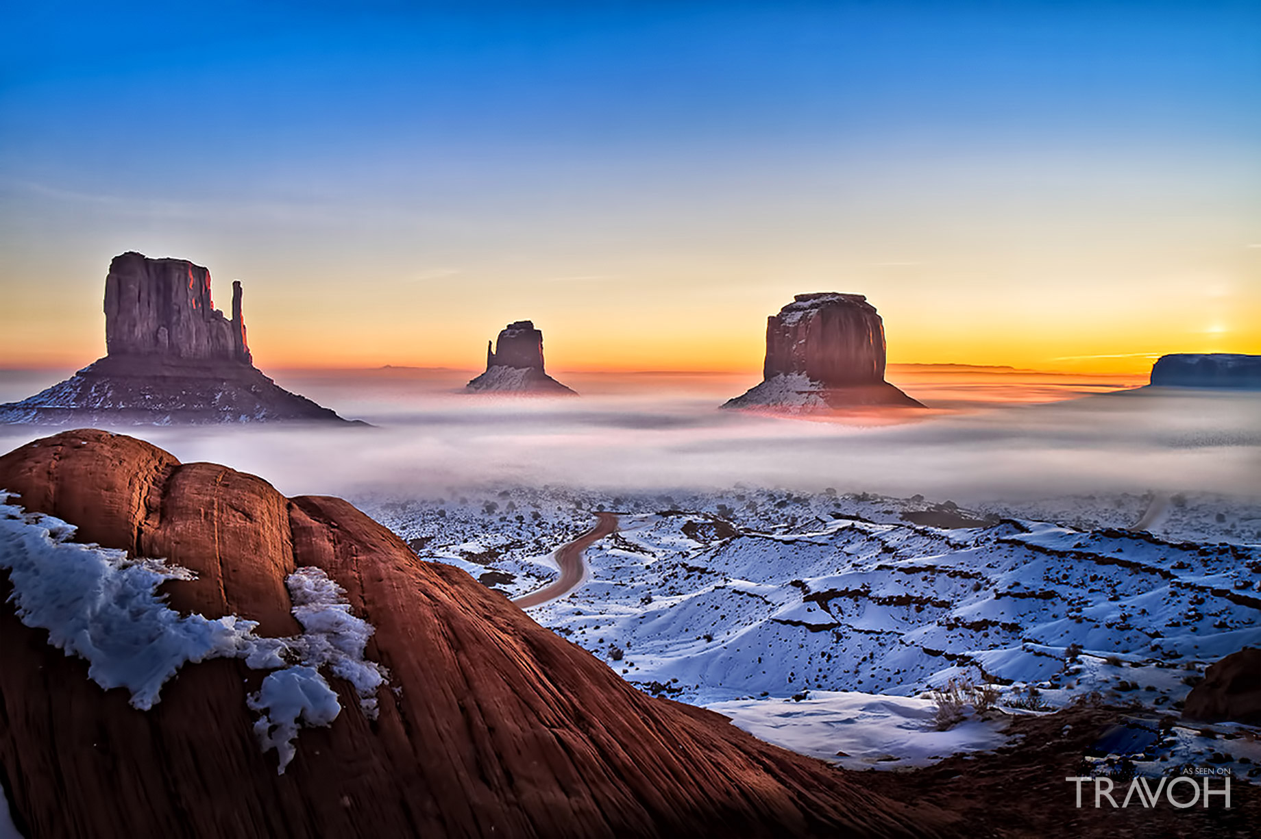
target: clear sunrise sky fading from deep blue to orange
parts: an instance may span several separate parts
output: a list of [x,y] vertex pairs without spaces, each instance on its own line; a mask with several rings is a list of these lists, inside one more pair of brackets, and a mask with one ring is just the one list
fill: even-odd
[[758,370],[808,291],[892,363],[1261,353],[1253,1],[4,9],[0,367],[102,355],[124,251],[264,370]]

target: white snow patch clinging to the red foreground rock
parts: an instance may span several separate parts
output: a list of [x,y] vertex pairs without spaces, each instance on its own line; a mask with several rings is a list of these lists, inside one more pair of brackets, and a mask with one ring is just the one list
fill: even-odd
[[[304,632],[260,637],[256,621],[209,620],[166,606],[158,586],[194,578],[187,568],[76,543],[74,533],[61,519],[0,504],[0,568],[9,571],[21,622],[48,630],[52,646],[86,659],[88,675],[106,690],[127,689],[132,707],[153,708],[163,684],[188,663],[237,658],[252,669],[285,668],[247,698],[262,714],[255,732],[264,751],[277,750],[281,773],[294,757],[299,723],[327,726],[340,711],[320,668],[353,684],[364,713],[376,716],[376,690],[387,673],[363,658],[372,625],[351,615],[346,590],[323,569],[299,568],[286,581]],[[294,659],[300,664],[286,666]]]

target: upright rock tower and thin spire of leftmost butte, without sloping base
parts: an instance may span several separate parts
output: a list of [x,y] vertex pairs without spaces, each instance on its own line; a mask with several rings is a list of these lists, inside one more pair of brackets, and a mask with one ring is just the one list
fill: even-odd
[[108,355],[231,360],[250,364],[241,282],[232,283],[232,319],[214,309],[211,272],[187,260],[113,257],[105,278]]

